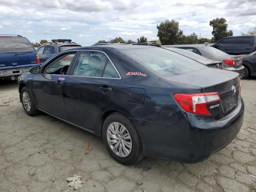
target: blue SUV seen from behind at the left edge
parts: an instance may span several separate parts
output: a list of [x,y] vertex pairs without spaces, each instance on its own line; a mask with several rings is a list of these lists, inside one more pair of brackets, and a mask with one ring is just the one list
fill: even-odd
[[39,57],[30,41],[20,35],[0,35],[0,79],[17,79],[39,65]]

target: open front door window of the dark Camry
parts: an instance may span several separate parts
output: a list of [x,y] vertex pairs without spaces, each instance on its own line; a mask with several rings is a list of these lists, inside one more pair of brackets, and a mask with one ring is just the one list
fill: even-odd
[[76,53],[70,53],[62,55],[52,63],[50,63],[45,69],[44,74],[61,74],[62,68],[65,67],[64,72],[68,71],[68,68],[74,58]]

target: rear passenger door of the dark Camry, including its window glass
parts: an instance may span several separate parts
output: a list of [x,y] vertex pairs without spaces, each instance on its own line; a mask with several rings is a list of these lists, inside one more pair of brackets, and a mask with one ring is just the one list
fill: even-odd
[[68,121],[94,128],[100,110],[110,102],[119,83],[120,75],[104,52],[81,51],[64,83]]

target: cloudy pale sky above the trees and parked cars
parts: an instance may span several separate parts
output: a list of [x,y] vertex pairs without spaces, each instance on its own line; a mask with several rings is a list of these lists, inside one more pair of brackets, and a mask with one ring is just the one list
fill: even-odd
[[0,34],[31,42],[70,38],[83,46],[122,36],[156,40],[156,25],[180,23],[189,35],[211,38],[209,21],[224,17],[234,35],[256,26],[256,0],[0,0]]

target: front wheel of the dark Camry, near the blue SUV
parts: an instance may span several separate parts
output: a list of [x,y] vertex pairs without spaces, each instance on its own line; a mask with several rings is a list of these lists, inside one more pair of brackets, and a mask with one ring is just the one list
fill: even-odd
[[32,96],[27,87],[23,87],[21,90],[22,106],[29,116],[35,116],[39,113],[32,100]]

